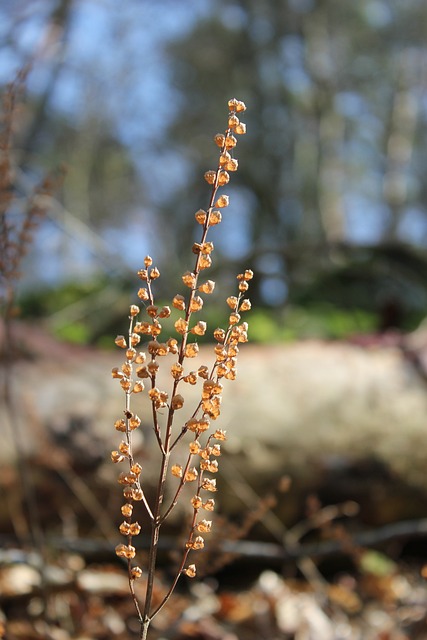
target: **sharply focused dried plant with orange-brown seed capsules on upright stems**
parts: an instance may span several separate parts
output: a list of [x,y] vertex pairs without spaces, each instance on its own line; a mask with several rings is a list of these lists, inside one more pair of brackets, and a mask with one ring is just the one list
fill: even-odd
[[[245,298],[253,276],[251,270],[237,276],[236,295],[227,298],[230,309],[228,325],[213,332],[216,345],[212,363],[202,364],[197,368],[194,365],[187,366],[187,363],[192,364],[198,356],[197,339],[205,335],[207,330],[206,322],[193,317],[196,314],[197,318],[203,308],[204,297],[209,296],[215,287],[212,280],[201,278],[202,272],[206,272],[212,264],[214,246],[207,240],[208,232],[221,222],[221,209],[229,204],[228,196],[219,194],[219,190],[229,182],[230,172],[237,170],[238,161],[233,155],[237,144],[235,136],[246,131],[245,124],[239,119],[241,112],[246,109],[244,103],[232,99],[228,102],[228,107],[228,127],[224,134],[215,136],[215,143],[220,149],[218,167],[205,173],[205,180],[212,186],[209,204],[206,210],[201,209],[195,214],[196,221],[201,226],[201,237],[192,247],[195,254],[194,268],[182,276],[186,287],[184,291],[187,293],[176,294],[172,300],[172,307],[179,312],[179,317],[171,326],[172,335],[168,334],[166,337],[166,330],[162,325],[170,317],[170,322],[173,322],[174,312],[169,306],[156,304],[155,281],[160,273],[153,266],[152,258],[147,256],[144,268],[138,272],[144,283],[138,291],[143,308],[141,310],[140,306],[131,305],[128,335],[117,336],[115,340],[125,351],[124,363],[112,372],[124,391],[125,408],[124,417],[115,423],[117,431],[123,434],[123,440],[118,450],[112,452],[111,458],[115,463],[126,464],[126,470],[120,473],[118,480],[123,485],[124,497],[121,507],[124,520],[119,529],[125,536],[126,543],[116,547],[116,554],[127,562],[130,592],[139,617],[142,639],[147,637],[151,621],[169,600],[180,576],[185,574],[193,578],[196,575],[196,565],[189,564],[189,556],[193,551],[203,549],[204,536],[212,529],[212,521],[207,519],[215,509],[212,495],[217,487],[216,479],[212,476],[218,471],[221,442],[226,439],[225,431],[211,428],[211,422],[220,415],[223,381],[236,378],[239,345],[248,339],[247,323],[241,321],[241,314],[251,308],[249,299]],[[145,351],[139,351],[143,338],[146,339]],[[164,358],[168,354],[173,356],[172,365],[169,358]],[[161,365],[167,367],[170,374],[170,393],[158,386]],[[141,426],[141,418],[133,405],[138,394],[144,392],[145,385],[148,387],[150,419],[161,461],[152,504],[144,491],[142,467],[135,459],[132,444],[133,431]],[[195,406],[189,412],[182,411],[186,385],[199,385],[200,391]],[[184,413],[187,418],[181,417]],[[188,444],[183,451],[182,444],[185,440],[188,440]],[[187,539],[169,590],[161,602],[153,606],[160,530],[180,498],[185,495],[185,485],[194,486]],[[166,493],[168,487],[171,495]],[[138,509],[142,511],[141,518],[148,520],[151,527],[151,543],[145,569],[136,562],[137,552],[133,543],[133,538],[142,528],[135,517]],[[135,581],[143,575],[146,577],[146,588],[144,598],[140,601]]]

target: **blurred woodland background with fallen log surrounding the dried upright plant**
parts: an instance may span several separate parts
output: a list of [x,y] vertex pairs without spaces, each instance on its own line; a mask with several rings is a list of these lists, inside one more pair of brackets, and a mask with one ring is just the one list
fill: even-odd
[[[426,88],[424,0],[2,0],[9,640],[135,637],[111,557],[114,337],[147,253],[165,304],[193,263],[231,97],[248,133],[203,313],[221,323],[253,269],[250,345],[224,401],[215,577],[153,638],[427,638]],[[53,596],[17,548],[54,566]]]

